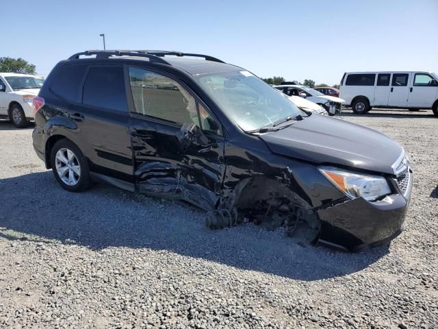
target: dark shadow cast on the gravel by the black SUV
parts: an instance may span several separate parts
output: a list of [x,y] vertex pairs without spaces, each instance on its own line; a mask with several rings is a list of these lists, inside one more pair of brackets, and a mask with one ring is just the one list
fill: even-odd
[[166,250],[306,281],[355,273],[389,252],[388,245],[359,254],[337,252],[253,224],[211,231],[203,223],[206,213],[198,208],[100,184],[70,193],[50,171],[1,179],[0,191],[8,195],[0,213],[0,239],[94,250]]

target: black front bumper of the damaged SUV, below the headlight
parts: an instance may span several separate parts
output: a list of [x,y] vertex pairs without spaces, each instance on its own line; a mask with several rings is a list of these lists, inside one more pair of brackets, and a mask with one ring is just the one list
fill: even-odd
[[404,195],[388,195],[378,202],[358,197],[318,210],[321,230],[317,243],[360,252],[394,239],[404,228],[412,182],[411,174]]

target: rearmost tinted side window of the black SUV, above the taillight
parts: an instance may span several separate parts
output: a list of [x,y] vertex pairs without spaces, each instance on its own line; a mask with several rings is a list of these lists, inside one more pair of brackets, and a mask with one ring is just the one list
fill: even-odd
[[86,68],[86,65],[71,65],[57,69],[49,85],[51,92],[67,101],[79,103],[79,86]]

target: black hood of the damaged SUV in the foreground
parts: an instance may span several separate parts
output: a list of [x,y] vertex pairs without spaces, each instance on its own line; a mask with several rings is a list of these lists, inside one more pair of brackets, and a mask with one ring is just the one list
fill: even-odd
[[394,174],[403,148],[385,134],[341,119],[311,115],[259,136],[275,154]]

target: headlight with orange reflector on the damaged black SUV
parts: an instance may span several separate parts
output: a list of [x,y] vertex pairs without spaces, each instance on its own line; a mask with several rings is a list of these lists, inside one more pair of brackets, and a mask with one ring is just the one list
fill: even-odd
[[339,190],[353,199],[363,197],[372,201],[391,193],[387,180],[382,176],[352,173],[333,167],[320,167],[319,170]]

